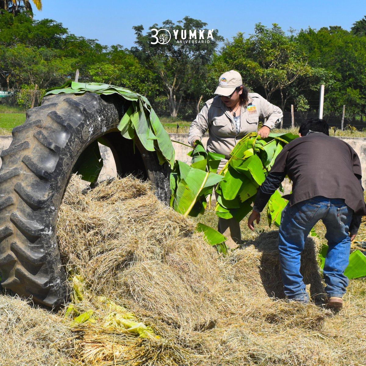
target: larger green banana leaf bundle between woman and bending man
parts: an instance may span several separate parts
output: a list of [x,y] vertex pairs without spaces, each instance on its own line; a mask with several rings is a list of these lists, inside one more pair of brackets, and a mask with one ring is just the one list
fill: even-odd
[[[216,214],[242,220],[251,210],[258,187],[264,182],[277,155],[288,142],[298,135],[270,134],[262,139],[256,132],[244,136],[230,154],[230,159],[220,172],[225,179],[216,187],[219,195]],[[281,212],[287,201],[276,191],[268,203],[268,223],[280,224]]]

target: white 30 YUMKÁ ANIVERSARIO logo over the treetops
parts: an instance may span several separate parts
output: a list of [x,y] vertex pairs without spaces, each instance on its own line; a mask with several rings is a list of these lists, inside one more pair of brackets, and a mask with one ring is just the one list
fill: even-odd
[[[167,43],[170,42],[172,36],[169,32],[168,29],[165,28],[161,28],[161,29],[156,29],[156,28],[152,28],[152,31],[155,33],[152,35],[152,37],[155,39],[154,42],[150,42],[152,45],[156,45],[161,44],[161,45],[166,45]],[[181,29],[180,30],[180,34],[179,34],[179,29],[173,29],[173,36],[175,38],[176,43],[210,43],[210,39],[213,40],[213,29],[199,29],[198,30],[198,34],[197,34],[197,30],[188,30],[188,34],[187,34],[187,30],[186,29]],[[207,33],[207,34],[205,34]],[[179,39],[178,36],[180,35]],[[187,39],[187,35],[188,35],[188,39]]]

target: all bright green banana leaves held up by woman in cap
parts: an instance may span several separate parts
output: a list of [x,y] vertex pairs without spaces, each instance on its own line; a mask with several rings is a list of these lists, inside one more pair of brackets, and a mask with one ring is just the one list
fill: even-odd
[[[298,135],[270,134],[262,139],[253,132],[243,137],[217,174],[221,154],[206,152],[202,143],[189,153],[192,164],[176,161],[171,174],[171,206],[185,216],[197,216],[206,208],[206,198],[215,187],[218,194],[216,214],[242,220],[250,211],[259,186],[264,182],[277,155]],[[287,201],[279,191],[268,203],[269,224],[280,223],[281,211]]]

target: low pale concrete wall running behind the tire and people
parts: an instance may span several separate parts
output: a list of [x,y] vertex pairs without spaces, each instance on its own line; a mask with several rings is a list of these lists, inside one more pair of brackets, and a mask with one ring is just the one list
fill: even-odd
[[[188,134],[169,134],[172,141],[182,142],[188,145]],[[339,137],[343,141],[347,142],[349,145],[353,147],[355,152],[358,154],[361,160],[362,165],[362,184],[363,187],[366,187],[366,138],[364,137]],[[0,136],[0,151],[7,149],[11,143],[11,136]],[[203,145],[206,146],[208,137],[202,138]],[[175,149],[175,158],[180,161],[184,161],[187,164],[190,164],[191,158],[187,156],[187,153],[191,150],[191,147],[184,146],[180,143],[173,142],[173,146]],[[116,166],[113,161],[113,156],[111,150],[108,147],[100,145],[101,155],[104,161],[104,167],[101,172],[101,176],[103,178],[107,178],[108,176],[116,176]],[[1,166],[1,160],[0,160]],[[337,167],[334,167],[337,169]],[[288,189],[288,187],[286,187]],[[287,190],[286,189],[286,190]]]

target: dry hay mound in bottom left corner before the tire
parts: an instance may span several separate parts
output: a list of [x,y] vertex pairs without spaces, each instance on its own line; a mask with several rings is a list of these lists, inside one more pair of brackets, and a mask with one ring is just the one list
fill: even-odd
[[1,366],[81,365],[63,318],[25,300],[0,295],[0,334]]

